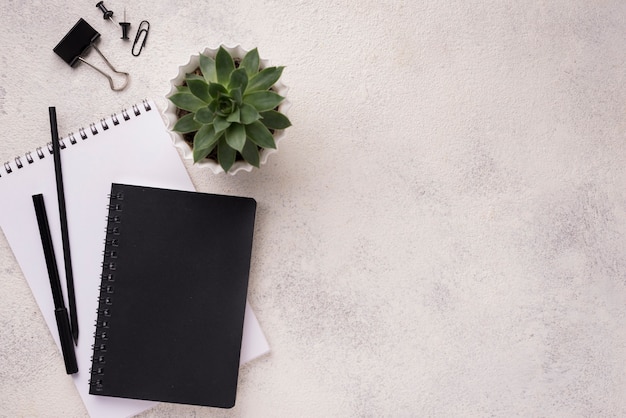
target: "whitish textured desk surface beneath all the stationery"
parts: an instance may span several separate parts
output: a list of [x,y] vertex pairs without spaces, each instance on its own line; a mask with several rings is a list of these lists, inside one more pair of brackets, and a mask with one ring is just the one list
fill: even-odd
[[[188,166],[259,202],[249,300],[272,346],[237,406],[144,417],[626,415],[626,3],[4,1],[0,159],[142,98],[206,46],[291,87],[278,154]],[[52,48],[85,18],[121,93]],[[90,56],[95,56],[93,52]],[[1,204],[1,202],[0,202]],[[86,414],[0,235],[0,416]]]

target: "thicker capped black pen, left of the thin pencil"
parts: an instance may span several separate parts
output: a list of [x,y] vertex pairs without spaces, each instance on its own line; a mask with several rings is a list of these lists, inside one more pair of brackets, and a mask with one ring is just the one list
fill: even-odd
[[74,352],[72,331],[67,317],[67,309],[65,309],[65,302],[63,301],[61,280],[59,279],[56,257],[54,256],[52,236],[50,235],[50,226],[48,225],[48,215],[46,214],[46,205],[44,204],[43,195],[33,195],[33,205],[35,206],[37,225],[39,225],[39,235],[41,236],[41,245],[46,258],[48,276],[50,277],[52,299],[54,300],[54,314],[56,316],[57,328],[59,330],[59,340],[61,341],[63,360],[65,360],[65,371],[67,374],[73,374],[78,372],[78,363],[76,362],[76,353]]

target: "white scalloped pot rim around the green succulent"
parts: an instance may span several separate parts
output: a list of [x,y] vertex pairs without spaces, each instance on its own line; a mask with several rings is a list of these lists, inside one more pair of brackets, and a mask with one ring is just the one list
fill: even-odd
[[[236,45],[236,46],[222,45],[222,46],[235,58],[243,58],[245,54],[248,52],[247,50],[243,49],[240,45]],[[202,53],[205,55],[209,55],[209,56],[215,56],[217,51],[218,51],[218,48],[205,48],[204,51],[202,51]],[[176,75],[176,77],[170,80],[170,91],[165,96],[167,99],[167,108],[164,112],[164,116],[165,116],[165,121],[167,124],[167,129],[170,133],[170,136],[172,137],[172,141],[174,142],[174,145],[182,151],[183,158],[185,158],[186,160],[191,160],[191,161],[193,161],[193,151],[191,147],[187,144],[187,142],[185,142],[181,134],[179,134],[178,132],[174,132],[172,130],[174,127],[174,124],[178,120],[178,116],[176,115],[176,106],[169,100],[169,97],[172,96],[174,93],[176,93],[176,86],[179,86],[182,84],[182,82],[185,79],[185,76],[193,72],[196,68],[198,68],[199,61],[200,61],[200,53],[191,55],[189,57],[189,61],[186,64],[178,67],[178,74]],[[262,68],[270,66],[269,61],[266,59],[260,59],[260,65]],[[274,88],[276,92],[280,94],[281,96],[283,97],[287,96],[287,91],[289,90],[289,88],[285,86],[280,80],[278,80],[276,84],[274,84]],[[289,107],[290,107],[290,102],[289,100],[285,98],[285,100],[283,100],[282,103],[278,106],[278,110],[282,112],[283,114],[286,114]],[[274,132],[274,141],[276,142],[276,149],[263,149],[261,151],[261,155],[260,155],[261,166],[267,162],[267,159],[271,154],[278,152],[278,143],[284,137],[284,134],[285,134],[285,131],[283,129],[276,130]],[[217,161],[211,160],[209,158],[205,158],[202,161],[198,161],[194,165],[197,165],[203,168],[208,168],[215,174],[224,172],[224,169],[217,163]],[[254,166],[252,166],[251,164],[245,161],[236,161],[231,167],[231,169],[228,170],[228,174],[234,175],[240,171],[250,172],[252,171],[253,168]]]

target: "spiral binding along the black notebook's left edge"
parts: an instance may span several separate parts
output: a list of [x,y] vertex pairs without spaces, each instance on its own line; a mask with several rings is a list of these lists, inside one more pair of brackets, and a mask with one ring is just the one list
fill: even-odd
[[90,392],[97,393],[104,388],[104,372],[109,330],[109,319],[115,298],[116,260],[119,235],[122,227],[124,195],[109,195],[106,237],[102,259],[102,275],[100,277],[100,295],[98,297],[98,316],[94,333],[93,356],[91,358]]

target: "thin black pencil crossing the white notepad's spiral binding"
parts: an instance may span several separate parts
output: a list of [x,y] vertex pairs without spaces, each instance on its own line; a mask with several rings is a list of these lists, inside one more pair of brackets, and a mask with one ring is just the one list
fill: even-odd
[[63,261],[65,262],[65,281],[67,283],[67,300],[70,305],[70,325],[74,344],[78,344],[78,317],[76,315],[76,296],[74,294],[74,274],[72,273],[72,257],[70,256],[70,238],[67,231],[67,211],[65,210],[65,192],[63,191],[63,172],[61,170],[61,150],[59,149],[59,132],[57,114],[54,107],[49,107],[50,133],[52,134],[52,153],[54,155],[54,174],[57,183],[59,215],[61,219],[61,240],[63,242]]

